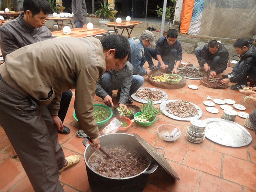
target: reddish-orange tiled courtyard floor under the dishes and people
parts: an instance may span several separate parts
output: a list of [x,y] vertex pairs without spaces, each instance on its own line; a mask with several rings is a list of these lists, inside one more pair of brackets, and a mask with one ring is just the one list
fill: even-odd
[[[182,61],[192,62],[198,66],[196,57],[191,54],[183,54]],[[228,67],[224,74],[231,70],[232,68]],[[221,75],[218,76],[221,77]],[[189,84],[199,86],[198,90],[189,89]],[[154,87],[148,83],[146,76],[143,87]],[[206,111],[203,101],[207,96],[213,99],[233,99],[236,103],[246,106],[245,112],[247,113],[255,108],[254,103],[243,102],[244,96],[240,92],[231,90],[230,87],[222,90],[207,88],[200,85],[200,80],[187,79],[184,88],[164,91],[168,94],[168,100],[184,99],[198,105],[203,111],[201,120],[221,118],[222,109],[217,104],[215,107],[219,110],[218,114]],[[66,192],[91,192],[83,160],[85,147],[82,144],[83,139],[76,136],[79,124],[72,116],[74,95],[73,90],[73,99],[64,122],[71,132],[68,135],[59,134],[59,141],[66,156],[79,154],[81,160],[78,165],[60,174],[60,182]],[[113,94],[113,98],[114,104],[117,105],[116,94]],[[95,103],[101,102],[101,98],[95,97]],[[141,105],[136,101],[133,104]],[[237,116],[234,122],[243,126],[244,120]],[[178,126],[182,130],[182,136],[175,142],[161,140],[156,129],[164,123]],[[132,127],[126,131],[128,134],[140,135],[154,147],[164,148],[165,158],[180,177],[180,181],[176,181],[164,170],[158,168],[149,176],[144,192],[256,192],[256,150],[253,148],[256,136],[254,132],[246,128],[252,135],[252,143],[240,148],[221,146],[207,138],[200,144],[194,144],[185,138],[188,124],[189,122],[173,120],[162,115],[158,116],[150,127],[144,128],[133,123]],[[8,138],[3,128],[0,128],[0,192],[33,192],[18,158],[13,159],[11,154]]]

